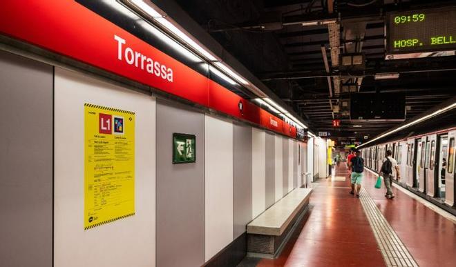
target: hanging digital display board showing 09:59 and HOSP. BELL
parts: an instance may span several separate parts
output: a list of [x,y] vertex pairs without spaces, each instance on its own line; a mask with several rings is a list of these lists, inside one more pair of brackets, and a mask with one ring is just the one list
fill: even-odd
[[455,55],[455,50],[456,7],[387,14],[386,59]]

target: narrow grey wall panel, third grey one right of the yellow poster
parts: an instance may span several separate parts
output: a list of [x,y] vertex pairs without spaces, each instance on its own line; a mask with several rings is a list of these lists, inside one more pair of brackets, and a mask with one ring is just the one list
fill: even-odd
[[266,161],[266,208],[276,200],[276,144],[275,135],[266,133],[265,161]]

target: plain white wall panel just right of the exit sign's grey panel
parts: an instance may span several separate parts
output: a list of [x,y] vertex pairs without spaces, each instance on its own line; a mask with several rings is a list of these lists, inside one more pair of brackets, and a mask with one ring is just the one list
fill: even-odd
[[205,115],[205,260],[232,240],[233,124]]

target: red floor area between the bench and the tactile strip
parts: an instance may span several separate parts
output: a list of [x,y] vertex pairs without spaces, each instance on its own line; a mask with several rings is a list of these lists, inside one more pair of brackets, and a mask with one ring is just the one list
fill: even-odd
[[[346,176],[345,169],[336,175]],[[348,193],[350,181],[320,183],[301,232],[278,259],[263,259],[258,266],[385,266],[359,199]]]

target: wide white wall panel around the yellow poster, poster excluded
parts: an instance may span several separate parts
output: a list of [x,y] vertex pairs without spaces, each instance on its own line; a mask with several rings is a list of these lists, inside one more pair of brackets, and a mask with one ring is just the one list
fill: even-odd
[[[84,230],[84,103],[135,112],[135,215]],[[155,266],[155,99],[55,68],[55,266]]]

